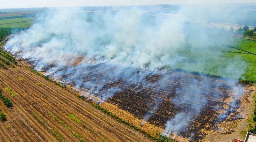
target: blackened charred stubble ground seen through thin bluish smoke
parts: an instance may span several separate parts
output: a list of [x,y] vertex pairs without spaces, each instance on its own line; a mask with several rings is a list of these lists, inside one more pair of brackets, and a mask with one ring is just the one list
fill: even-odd
[[[118,90],[108,98],[107,102],[132,113],[139,119],[144,119],[148,112],[154,110],[147,121],[161,128],[164,128],[167,121],[179,112],[190,114],[191,116],[182,118],[189,120],[185,124],[188,129],[181,129],[178,135],[191,138],[192,142],[200,141],[205,137],[202,129],[215,129],[218,122],[217,110],[222,108],[224,100],[229,97],[229,85],[218,77],[169,70],[165,74],[146,75],[142,82],[132,84],[129,80],[121,79],[122,77],[113,80],[112,77],[116,74],[111,67],[106,71],[97,68],[104,69],[101,64],[97,64],[84,66],[80,71],[76,71],[77,67],[65,67],[56,73],[64,72],[60,80],[63,79],[72,86],[77,86],[79,83],[80,90],[88,91],[100,86],[96,91],[90,90],[98,97],[105,97],[106,92],[104,94],[101,91],[113,88]],[[140,71],[134,72],[135,75],[140,73]],[[124,74],[125,72],[122,75]],[[91,84],[92,88],[88,87],[90,83],[93,84]],[[185,93],[188,95],[184,95]],[[180,103],[177,104],[177,100]],[[202,105],[200,111],[197,111],[197,104]],[[155,106],[158,106],[157,109],[154,108]],[[228,112],[228,115],[230,113]]]

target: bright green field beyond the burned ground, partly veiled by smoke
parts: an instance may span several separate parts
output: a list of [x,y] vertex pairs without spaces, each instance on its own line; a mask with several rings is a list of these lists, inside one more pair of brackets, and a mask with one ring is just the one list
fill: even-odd
[[[212,41],[256,54],[256,40],[227,35],[218,35],[218,39],[216,35],[214,37]],[[186,40],[186,48],[180,51],[184,59],[170,68],[225,78],[238,78],[242,74],[241,80],[256,83],[256,55],[197,37],[190,36]],[[192,42],[197,46],[191,48]]]

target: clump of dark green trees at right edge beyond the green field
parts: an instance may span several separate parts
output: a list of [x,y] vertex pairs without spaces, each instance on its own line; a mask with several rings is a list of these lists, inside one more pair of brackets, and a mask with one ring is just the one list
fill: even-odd
[[229,29],[229,32],[252,37],[252,36],[256,36],[256,27],[253,30],[249,30],[249,27],[245,25],[243,28],[238,28],[237,30],[235,30],[231,26]]

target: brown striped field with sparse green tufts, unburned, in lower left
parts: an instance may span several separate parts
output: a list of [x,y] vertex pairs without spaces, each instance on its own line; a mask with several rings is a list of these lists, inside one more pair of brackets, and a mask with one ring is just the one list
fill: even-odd
[[[111,141],[149,141],[24,66],[16,68],[17,70],[0,69],[3,72],[0,75],[0,89],[14,104],[13,108],[6,108],[1,103],[2,111],[7,115],[7,121],[0,123],[1,132],[6,133],[0,136],[1,140],[58,141],[56,136],[33,116],[33,113],[36,113],[51,128],[60,132],[66,141],[79,141],[48,114],[50,111],[87,141],[102,141],[103,138]],[[18,80],[18,77],[22,77],[23,80]],[[36,82],[40,82],[41,85],[36,85]],[[5,86],[17,95],[11,97],[4,90]],[[75,123],[68,114],[75,114],[83,123]],[[10,125],[9,128],[6,128],[7,123]]]

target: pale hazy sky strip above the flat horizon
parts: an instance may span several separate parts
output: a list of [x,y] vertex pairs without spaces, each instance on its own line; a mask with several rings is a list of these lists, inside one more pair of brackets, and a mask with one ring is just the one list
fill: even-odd
[[0,8],[188,3],[256,3],[256,0],[0,0]]

